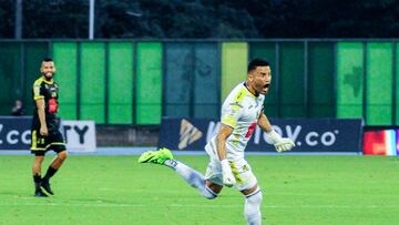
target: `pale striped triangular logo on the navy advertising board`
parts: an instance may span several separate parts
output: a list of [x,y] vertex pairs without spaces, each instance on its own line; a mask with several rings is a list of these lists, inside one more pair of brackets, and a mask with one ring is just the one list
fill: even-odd
[[202,136],[203,133],[197,127],[183,119],[181,122],[178,150],[187,147],[190,144],[198,141]]

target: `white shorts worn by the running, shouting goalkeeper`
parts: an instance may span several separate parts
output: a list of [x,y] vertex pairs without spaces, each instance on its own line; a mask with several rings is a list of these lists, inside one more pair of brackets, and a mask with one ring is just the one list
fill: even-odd
[[[229,160],[228,162],[231,164],[233,175],[236,178],[236,184],[234,185],[236,190],[248,190],[257,184],[257,180],[246,160]],[[223,186],[221,161],[211,157],[209,164],[205,172],[205,180]]]

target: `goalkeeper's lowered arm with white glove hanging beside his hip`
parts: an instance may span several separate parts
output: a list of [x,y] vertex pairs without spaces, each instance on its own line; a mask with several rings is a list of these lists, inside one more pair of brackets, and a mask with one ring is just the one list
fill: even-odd
[[236,183],[236,180],[232,172],[232,167],[226,158],[226,140],[232,133],[233,127],[222,123],[221,130],[216,137],[216,149],[217,156],[221,160],[222,165],[223,184],[228,187],[233,186]]

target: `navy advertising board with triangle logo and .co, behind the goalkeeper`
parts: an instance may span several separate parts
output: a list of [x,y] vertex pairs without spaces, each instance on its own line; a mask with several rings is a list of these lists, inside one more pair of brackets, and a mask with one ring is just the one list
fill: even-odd
[[[362,121],[359,119],[270,120],[276,132],[296,143],[293,152],[361,153]],[[172,150],[204,150],[206,142],[216,134],[221,123],[207,119],[163,117],[158,146]],[[268,136],[258,126],[246,151],[275,152]]]

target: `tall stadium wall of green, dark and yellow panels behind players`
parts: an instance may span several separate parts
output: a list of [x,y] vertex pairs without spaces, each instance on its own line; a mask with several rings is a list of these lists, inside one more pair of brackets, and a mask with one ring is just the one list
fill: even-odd
[[270,117],[364,119],[398,125],[397,40],[0,41],[0,114],[16,99],[31,114],[31,84],[51,55],[60,115],[96,124],[158,125],[162,116],[217,117],[250,59],[272,63]]

